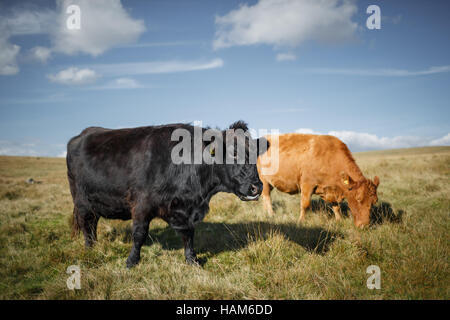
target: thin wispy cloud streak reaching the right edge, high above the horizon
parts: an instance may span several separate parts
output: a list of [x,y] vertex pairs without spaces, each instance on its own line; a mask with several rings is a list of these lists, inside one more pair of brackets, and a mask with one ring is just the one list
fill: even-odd
[[422,76],[435,73],[450,72],[450,66],[430,67],[424,70],[404,70],[404,69],[334,69],[334,68],[313,68],[309,72],[324,75],[349,75],[349,76],[382,76],[382,77],[410,77]]

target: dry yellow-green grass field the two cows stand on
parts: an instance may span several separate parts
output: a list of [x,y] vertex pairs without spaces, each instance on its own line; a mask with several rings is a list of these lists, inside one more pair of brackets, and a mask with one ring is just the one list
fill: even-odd
[[[336,223],[317,198],[297,224],[298,195],[274,191],[270,218],[262,201],[218,194],[196,229],[202,267],[185,264],[180,237],[156,219],[127,270],[131,221],[100,220],[91,250],[71,238],[64,159],[0,157],[0,298],[449,299],[450,147],[355,158],[381,180],[369,230]],[[81,290],[66,286],[73,264]],[[369,265],[381,269],[380,290],[366,287]]]

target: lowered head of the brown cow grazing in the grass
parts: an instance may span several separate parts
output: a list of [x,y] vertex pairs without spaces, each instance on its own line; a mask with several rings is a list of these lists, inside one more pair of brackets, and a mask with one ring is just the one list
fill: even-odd
[[341,178],[347,189],[346,198],[355,226],[362,228],[369,225],[370,209],[378,201],[377,188],[380,179],[376,176],[373,181],[364,179],[356,182],[345,172],[341,173]]

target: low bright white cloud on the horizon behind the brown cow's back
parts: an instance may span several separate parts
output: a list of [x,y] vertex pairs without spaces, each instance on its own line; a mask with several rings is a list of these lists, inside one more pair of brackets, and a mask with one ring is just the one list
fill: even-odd
[[[309,128],[300,128],[295,132],[322,134],[321,132]],[[352,151],[450,145],[450,133],[435,140],[416,136],[378,137],[375,134],[355,131],[329,131],[327,134],[335,136],[345,142]]]

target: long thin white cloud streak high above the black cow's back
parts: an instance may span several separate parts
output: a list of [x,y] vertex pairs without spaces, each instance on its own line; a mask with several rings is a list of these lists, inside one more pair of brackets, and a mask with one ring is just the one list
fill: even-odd
[[91,68],[102,75],[124,76],[138,74],[174,73],[215,69],[223,66],[222,59],[210,61],[153,61],[136,63],[97,64]]

